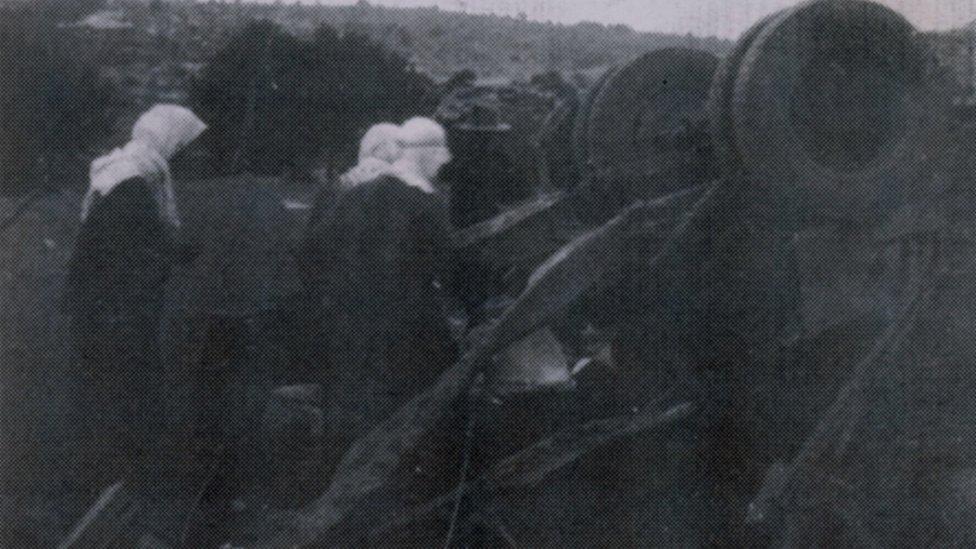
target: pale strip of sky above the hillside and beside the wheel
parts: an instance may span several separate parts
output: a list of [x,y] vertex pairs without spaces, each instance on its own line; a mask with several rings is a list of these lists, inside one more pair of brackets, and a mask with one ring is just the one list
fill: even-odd
[[[256,0],[270,2],[272,0]],[[291,3],[287,0],[286,3]],[[352,0],[301,0],[350,4]],[[372,4],[517,15],[559,23],[623,23],[641,31],[732,38],[766,14],[800,0],[370,0]],[[878,0],[922,30],[960,27],[976,19],[976,0]]]

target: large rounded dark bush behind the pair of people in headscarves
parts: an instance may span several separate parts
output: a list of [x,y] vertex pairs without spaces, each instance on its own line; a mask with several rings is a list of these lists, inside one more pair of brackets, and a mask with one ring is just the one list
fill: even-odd
[[383,46],[322,27],[300,40],[262,21],[246,26],[191,86],[223,173],[271,175],[325,160],[348,164],[381,120],[432,108],[430,81]]

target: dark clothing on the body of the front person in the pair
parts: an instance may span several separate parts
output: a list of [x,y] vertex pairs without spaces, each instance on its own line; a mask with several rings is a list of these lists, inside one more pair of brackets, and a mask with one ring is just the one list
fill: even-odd
[[314,228],[329,427],[355,439],[454,360],[441,284],[446,207],[391,176],[343,192]]

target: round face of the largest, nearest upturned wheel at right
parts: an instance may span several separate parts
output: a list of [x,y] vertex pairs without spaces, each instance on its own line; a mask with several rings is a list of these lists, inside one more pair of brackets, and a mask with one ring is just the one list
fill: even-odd
[[[860,0],[783,12],[735,84],[735,140],[755,184],[802,215],[871,220],[931,192],[940,101],[915,29]],[[785,191],[785,192],[782,192]]]

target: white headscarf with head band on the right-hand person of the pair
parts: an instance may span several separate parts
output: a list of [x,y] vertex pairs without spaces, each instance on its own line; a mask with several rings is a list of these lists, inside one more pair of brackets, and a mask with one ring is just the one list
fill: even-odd
[[447,132],[430,118],[411,118],[400,127],[403,155],[393,163],[393,173],[407,185],[433,193],[437,172],[451,160]]

